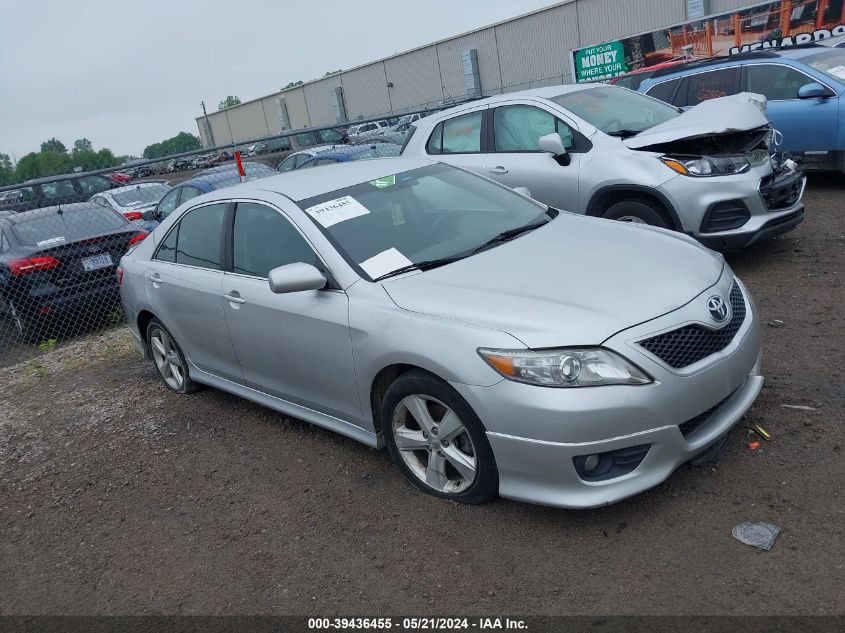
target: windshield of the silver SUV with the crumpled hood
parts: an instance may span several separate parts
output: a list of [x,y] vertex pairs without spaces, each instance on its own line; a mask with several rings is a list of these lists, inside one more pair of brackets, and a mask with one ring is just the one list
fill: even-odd
[[677,108],[617,86],[567,92],[552,101],[605,134],[633,136],[680,115]]

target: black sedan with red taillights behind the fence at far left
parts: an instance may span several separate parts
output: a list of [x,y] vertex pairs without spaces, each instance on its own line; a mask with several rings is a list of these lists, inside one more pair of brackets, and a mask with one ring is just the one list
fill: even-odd
[[0,212],[2,311],[25,340],[56,316],[109,314],[120,303],[117,264],[146,236],[92,202]]

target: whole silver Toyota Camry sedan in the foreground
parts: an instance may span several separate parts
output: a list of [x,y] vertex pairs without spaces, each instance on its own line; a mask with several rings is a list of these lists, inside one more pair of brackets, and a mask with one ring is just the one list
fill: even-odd
[[754,303],[666,230],[416,158],[192,199],[118,270],[137,347],[386,446],[420,490],[613,503],[722,450],[762,386]]

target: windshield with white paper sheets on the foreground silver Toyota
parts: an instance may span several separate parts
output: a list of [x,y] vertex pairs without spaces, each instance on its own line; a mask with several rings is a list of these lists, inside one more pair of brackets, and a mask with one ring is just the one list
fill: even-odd
[[370,279],[470,256],[555,215],[510,189],[447,165],[387,172],[297,204]]

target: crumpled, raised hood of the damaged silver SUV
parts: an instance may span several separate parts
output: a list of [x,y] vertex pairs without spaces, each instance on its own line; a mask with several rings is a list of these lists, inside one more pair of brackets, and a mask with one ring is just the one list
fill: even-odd
[[660,125],[623,142],[631,149],[646,149],[673,141],[750,132],[769,125],[766,97],[741,92],[709,99]]

